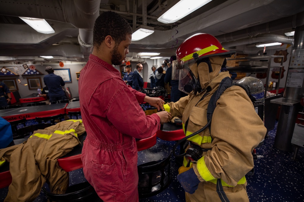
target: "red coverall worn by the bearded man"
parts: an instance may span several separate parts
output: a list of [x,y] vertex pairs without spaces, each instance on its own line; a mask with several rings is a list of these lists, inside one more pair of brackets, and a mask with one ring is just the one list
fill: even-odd
[[79,100],[87,132],[83,171],[105,202],[138,201],[135,138],[150,137],[160,128],[159,116],[146,116],[138,104],[145,96],[94,55],[81,70]]

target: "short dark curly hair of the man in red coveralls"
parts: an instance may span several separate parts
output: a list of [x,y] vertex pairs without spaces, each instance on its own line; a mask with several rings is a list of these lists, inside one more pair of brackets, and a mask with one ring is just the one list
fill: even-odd
[[110,35],[117,44],[120,44],[121,41],[126,40],[127,34],[132,33],[132,28],[126,19],[115,12],[103,12],[95,21],[93,45],[99,48],[107,35]]

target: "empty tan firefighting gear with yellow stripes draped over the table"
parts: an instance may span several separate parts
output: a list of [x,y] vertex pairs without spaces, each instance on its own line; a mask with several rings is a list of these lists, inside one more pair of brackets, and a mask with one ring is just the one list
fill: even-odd
[[22,144],[0,150],[0,164],[9,162],[12,184],[4,201],[33,201],[47,182],[50,191],[65,193],[69,175],[57,159],[80,144],[78,135],[85,132],[82,120],[67,120],[34,131]]

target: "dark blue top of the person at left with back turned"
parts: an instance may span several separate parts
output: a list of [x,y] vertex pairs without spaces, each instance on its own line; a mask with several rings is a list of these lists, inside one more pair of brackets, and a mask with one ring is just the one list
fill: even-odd
[[50,98],[65,96],[65,92],[62,89],[62,86],[64,86],[65,83],[61,76],[50,73],[43,77],[43,81],[47,88],[49,88],[48,96]]

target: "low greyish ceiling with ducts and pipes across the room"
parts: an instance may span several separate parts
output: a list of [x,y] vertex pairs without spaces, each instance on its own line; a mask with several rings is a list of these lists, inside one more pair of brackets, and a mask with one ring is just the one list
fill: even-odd
[[[177,1],[1,1],[0,63],[87,61],[94,21],[100,12],[108,10],[122,15],[133,28],[145,24],[154,27],[152,35],[132,42],[130,58],[142,51],[170,57],[183,40],[198,32],[216,36],[224,48],[255,53],[259,50],[256,43],[292,44],[292,37],[284,32],[304,24],[302,0],[213,0],[176,23],[158,22],[161,11]],[[18,16],[44,18],[55,33],[38,33]],[[54,59],[45,60],[40,55],[52,55]]]

